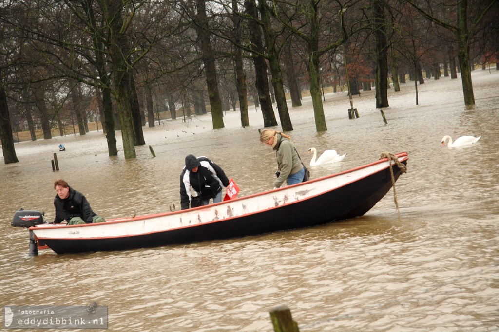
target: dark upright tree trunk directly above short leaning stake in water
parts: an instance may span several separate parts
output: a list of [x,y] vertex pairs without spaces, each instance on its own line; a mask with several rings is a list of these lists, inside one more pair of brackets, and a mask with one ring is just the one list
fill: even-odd
[[376,37],[376,108],[388,107],[388,60],[383,0],[373,1],[374,35]]

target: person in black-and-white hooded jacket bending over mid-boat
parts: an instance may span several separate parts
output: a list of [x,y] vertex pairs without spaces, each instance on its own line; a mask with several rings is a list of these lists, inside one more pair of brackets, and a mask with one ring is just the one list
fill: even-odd
[[197,195],[202,196],[203,205],[222,201],[222,186],[229,185],[229,179],[224,170],[206,157],[186,157],[186,166],[180,174],[180,206],[188,209],[191,203],[191,187]]

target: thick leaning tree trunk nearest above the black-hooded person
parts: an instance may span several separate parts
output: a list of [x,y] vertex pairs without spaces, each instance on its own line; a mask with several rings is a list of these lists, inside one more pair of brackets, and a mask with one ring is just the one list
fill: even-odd
[[210,109],[212,112],[213,129],[224,128],[224,113],[222,112],[222,100],[218,89],[217,68],[215,66],[214,52],[208,30],[208,18],[206,16],[205,0],[196,1],[196,30],[201,40],[201,54],[205,65],[206,85],[208,88],[208,98],[210,99]]

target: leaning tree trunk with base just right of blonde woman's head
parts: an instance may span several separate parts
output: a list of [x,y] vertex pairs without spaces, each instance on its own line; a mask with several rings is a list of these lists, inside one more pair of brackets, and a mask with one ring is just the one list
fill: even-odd
[[277,111],[279,113],[282,131],[289,132],[293,130],[293,125],[287,109],[286,94],[282,82],[282,70],[279,65],[279,53],[275,47],[275,35],[270,23],[270,13],[263,1],[259,1],[259,3],[261,20],[263,22],[263,35],[265,37],[265,48],[268,54],[268,63],[270,64],[271,82],[274,89]]

